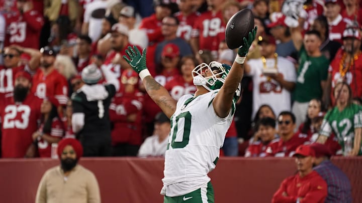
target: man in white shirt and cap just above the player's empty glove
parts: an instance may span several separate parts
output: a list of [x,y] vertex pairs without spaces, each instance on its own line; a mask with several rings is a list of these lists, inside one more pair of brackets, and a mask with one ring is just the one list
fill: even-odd
[[138,45],[142,49],[148,46],[148,36],[145,30],[140,30],[135,27],[136,13],[133,7],[124,7],[120,12],[119,23],[128,27],[128,41],[130,44]]

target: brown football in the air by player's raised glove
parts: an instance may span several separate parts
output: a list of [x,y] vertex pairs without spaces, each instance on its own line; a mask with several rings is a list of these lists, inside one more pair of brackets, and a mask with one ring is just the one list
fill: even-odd
[[234,14],[225,28],[225,41],[229,49],[236,49],[243,44],[243,38],[248,38],[254,28],[254,16],[250,9],[243,9]]

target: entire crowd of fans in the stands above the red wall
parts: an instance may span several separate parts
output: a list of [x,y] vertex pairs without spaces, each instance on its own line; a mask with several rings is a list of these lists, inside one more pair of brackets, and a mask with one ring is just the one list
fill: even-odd
[[122,56],[146,48],[151,75],[174,99],[193,94],[196,66],[233,63],[225,26],[244,8],[258,30],[222,153],[293,156],[319,142],[333,155],[362,154],[358,0],[0,4],[3,158],[54,157],[63,138],[78,139],[84,156],[163,156],[169,120]]

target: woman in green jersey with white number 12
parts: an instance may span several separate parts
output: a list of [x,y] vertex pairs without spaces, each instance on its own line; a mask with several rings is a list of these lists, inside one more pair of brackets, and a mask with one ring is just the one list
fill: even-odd
[[334,88],[336,106],[325,115],[317,142],[324,144],[332,132],[346,156],[362,155],[362,106],[352,103],[352,91],[345,82]]

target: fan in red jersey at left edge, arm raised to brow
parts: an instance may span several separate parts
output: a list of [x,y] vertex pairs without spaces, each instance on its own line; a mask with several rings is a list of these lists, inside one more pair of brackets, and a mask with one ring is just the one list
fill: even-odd
[[[20,65],[20,56],[22,53],[29,54],[31,59],[28,65]],[[20,46],[11,46],[4,50],[4,66],[0,66],[0,99],[5,94],[14,91],[15,75],[19,71],[35,71],[39,66],[41,54],[38,50],[23,48]]]

